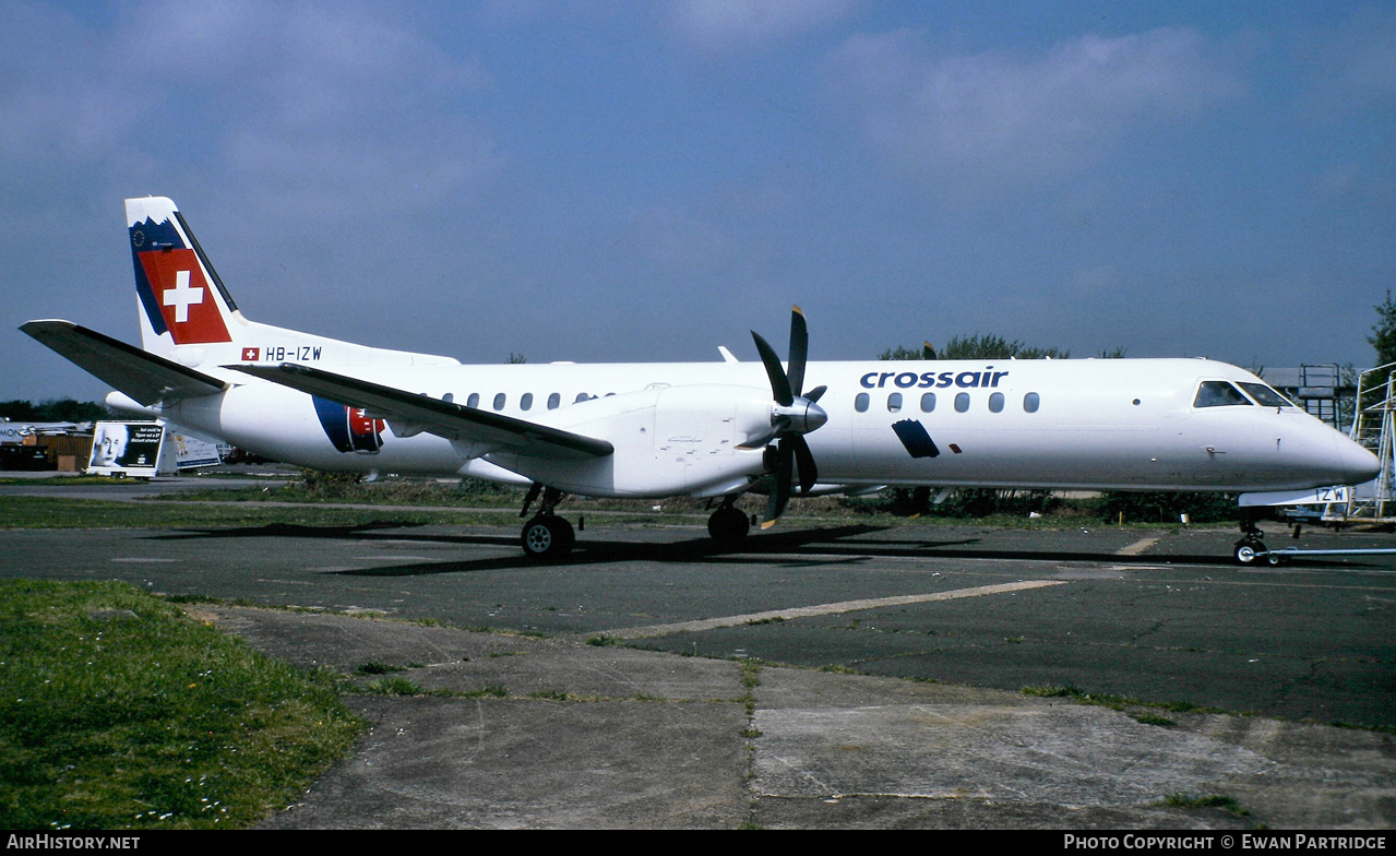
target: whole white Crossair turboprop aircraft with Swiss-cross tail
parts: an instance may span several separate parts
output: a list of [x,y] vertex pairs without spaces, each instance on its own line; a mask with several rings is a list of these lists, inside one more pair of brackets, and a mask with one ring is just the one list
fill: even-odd
[[[141,348],[59,320],[25,332],[107,401],[327,471],[528,485],[524,550],[565,556],[565,493],[733,501],[879,486],[1279,492],[1375,478],[1376,458],[1235,366],[1202,359],[462,366],[243,317],[168,198],[126,201]],[[812,388],[805,388],[805,380]],[[1242,526],[1237,556],[1259,545]]]

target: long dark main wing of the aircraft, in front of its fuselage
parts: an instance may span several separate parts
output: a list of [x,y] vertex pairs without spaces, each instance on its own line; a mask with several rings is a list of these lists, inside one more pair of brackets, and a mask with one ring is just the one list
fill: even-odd
[[[606,440],[468,408],[420,392],[408,392],[366,380],[311,369],[296,363],[279,366],[226,366],[262,380],[320,395],[339,404],[364,408],[374,418],[388,419],[394,431],[427,431],[447,440],[470,443],[487,451],[510,451],[553,458],[604,458],[616,451]],[[406,431],[405,431],[406,433]]]

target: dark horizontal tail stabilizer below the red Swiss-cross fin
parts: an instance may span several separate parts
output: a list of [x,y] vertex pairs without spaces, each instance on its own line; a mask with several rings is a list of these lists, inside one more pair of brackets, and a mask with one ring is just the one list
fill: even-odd
[[29,321],[20,330],[147,406],[170,398],[212,395],[228,388],[215,377],[73,321]]

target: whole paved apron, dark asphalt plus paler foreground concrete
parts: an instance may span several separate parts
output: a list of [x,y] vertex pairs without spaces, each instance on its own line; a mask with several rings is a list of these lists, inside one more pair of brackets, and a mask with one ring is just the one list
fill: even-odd
[[293,662],[455,691],[348,697],[371,732],[275,828],[1396,821],[1390,556],[793,517],[722,552],[595,519],[556,566],[515,526],[0,531],[0,574],[306,607],[198,609]]

